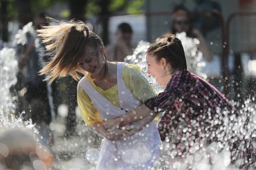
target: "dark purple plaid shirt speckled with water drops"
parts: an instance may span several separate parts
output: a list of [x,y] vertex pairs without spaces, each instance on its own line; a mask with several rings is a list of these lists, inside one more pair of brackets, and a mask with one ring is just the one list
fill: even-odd
[[[176,156],[184,154],[193,145],[187,145],[185,141],[203,142],[204,146],[210,145],[213,141],[222,141],[233,146],[230,152],[236,149],[232,156],[233,163],[239,158],[251,158],[250,163],[246,162],[240,168],[255,163],[255,150],[250,139],[244,140],[243,145],[249,145],[246,151],[237,152],[237,145],[240,145],[241,140],[233,140],[237,139],[237,133],[227,129],[233,126],[239,115],[238,111],[223,94],[199,76],[186,70],[176,73],[164,92],[147,100],[145,105],[153,111],[165,112],[159,122],[159,132],[162,140],[167,138],[170,143],[176,145]],[[225,122],[226,119],[228,121]]]

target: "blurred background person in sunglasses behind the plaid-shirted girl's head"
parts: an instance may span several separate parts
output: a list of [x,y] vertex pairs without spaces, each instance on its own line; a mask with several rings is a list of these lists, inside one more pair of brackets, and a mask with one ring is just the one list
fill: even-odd
[[174,13],[172,18],[171,33],[185,32],[187,37],[196,38],[199,40],[198,49],[202,52],[202,55],[206,61],[211,62],[213,57],[209,51],[204,36],[200,31],[193,27],[189,14],[185,10],[178,10]]

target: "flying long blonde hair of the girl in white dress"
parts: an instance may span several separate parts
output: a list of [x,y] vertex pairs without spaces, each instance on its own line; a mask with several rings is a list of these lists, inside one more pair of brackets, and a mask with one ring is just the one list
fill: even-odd
[[[38,36],[42,43],[46,44],[46,55],[50,55],[50,61],[40,70],[40,75],[48,74],[45,80],[52,83],[57,77],[71,75],[75,80],[80,76],[77,72],[86,74],[86,71],[78,66],[79,59],[85,52],[85,47],[90,45],[104,47],[98,35],[89,31],[82,21],[57,21],[54,25],[42,26],[38,29]],[[106,56],[105,56],[106,59]]]

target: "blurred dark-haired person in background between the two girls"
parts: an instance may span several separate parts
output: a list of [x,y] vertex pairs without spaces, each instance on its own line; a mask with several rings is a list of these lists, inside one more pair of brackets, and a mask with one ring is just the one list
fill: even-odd
[[127,55],[132,55],[134,45],[132,40],[132,27],[128,23],[120,23],[116,31],[116,44],[106,46],[109,61],[124,61]]

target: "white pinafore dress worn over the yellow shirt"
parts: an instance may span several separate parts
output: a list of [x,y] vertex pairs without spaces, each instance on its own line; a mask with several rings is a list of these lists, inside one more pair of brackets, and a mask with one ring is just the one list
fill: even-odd
[[[142,104],[126,87],[122,78],[124,64],[126,63],[117,65],[118,97],[121,108],[113,105],[94,89],[86,76],[78,83],[78,86],[81,86],[90,97],[101,120],[119,117]],[[158,121],[154,119],[142,131],[126,139],[109,141],[104,138],[96,170],[146,170],[153,167],[160,156],[161,140],[157,127]]]

